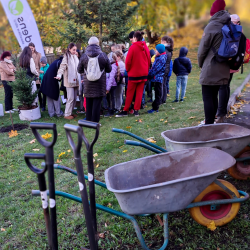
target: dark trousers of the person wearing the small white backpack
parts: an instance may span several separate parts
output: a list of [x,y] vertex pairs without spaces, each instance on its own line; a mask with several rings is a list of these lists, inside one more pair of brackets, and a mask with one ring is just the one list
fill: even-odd
[[86,97],[86,120],[91,122],[100,121],[102,97],[88,98]]

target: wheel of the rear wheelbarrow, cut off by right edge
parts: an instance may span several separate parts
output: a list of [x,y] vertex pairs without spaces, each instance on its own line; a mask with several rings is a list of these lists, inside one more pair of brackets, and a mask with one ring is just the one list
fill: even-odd
[[[245,147],[235,158],[250,157],[250,147]],[[229,168],[227,172],[237,180],[247,180],[250,178],[250,164],[245,165],[244,162],[239,161]]]

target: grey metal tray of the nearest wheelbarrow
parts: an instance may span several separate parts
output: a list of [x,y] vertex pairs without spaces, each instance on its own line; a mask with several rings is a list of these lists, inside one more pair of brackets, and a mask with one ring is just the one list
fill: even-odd
[[169,213],[186,208],[234,164],[218,149],[186,149],[115,165],[105,171],[105,180],[124,213]]

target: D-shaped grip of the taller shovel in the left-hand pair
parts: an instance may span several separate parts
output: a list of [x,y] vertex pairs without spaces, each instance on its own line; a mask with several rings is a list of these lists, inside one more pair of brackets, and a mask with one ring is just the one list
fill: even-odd
[[[45,148],[53,147],[57,140],[57,130],[55,123],[41,123],[41,122],[31,122],[30,128],[34,136],[36,137],[37,141]],[[53,130],[53,139],[52,142],[48,142],[42,138],[42,136],[38,133],[38,129],[49,129]]]

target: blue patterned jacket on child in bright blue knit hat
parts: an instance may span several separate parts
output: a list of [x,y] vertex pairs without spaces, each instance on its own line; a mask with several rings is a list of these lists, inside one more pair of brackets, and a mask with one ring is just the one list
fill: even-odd
[[166,53],[155,57],[155,62],[152,66],[152,69],[148,73],[149,78],[152,78],[152,82],[163,83],[167,65],[167,57],[168,56]]

